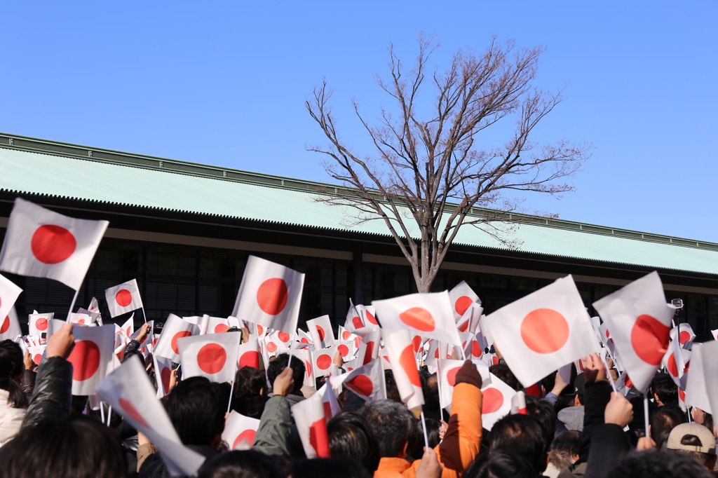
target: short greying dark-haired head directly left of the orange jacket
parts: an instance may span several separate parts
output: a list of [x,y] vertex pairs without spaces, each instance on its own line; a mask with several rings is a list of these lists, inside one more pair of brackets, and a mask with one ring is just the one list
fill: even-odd
[[406,408],[393,400],[376,400],[361,409],[376,438],[381,458],[404,458],[409,441]]

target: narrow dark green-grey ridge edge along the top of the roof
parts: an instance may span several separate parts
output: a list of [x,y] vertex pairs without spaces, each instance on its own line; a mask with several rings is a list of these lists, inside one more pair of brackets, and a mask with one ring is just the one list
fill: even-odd
[[[53,156],[67,156],[75,159],[83,159],[85,161],[96,161],[126,167],[137,167],[141,169],[153,169],[167,173],[186,174],[189,176],[220,179],[230,182],[242,182],[264,187],[292,189],[300,192],[320,195],[330,194],[327,193],[327,189],[335,189],[335,192],[337,192],[338,189],[348,189],[344,186],[325,182],[248,172],[241,169],[218,167],[208,164],[193,163],[190,161],[180,161],[177,159],[167,159],[160,156],[127,153],[124,151],[64,143],[62,141],[38,139],[31,136],[21,136],[3,132],[0,132],[0,148],[50,154]],[[718,250],[718,243],[711,243],[703,240],[691,240],[669,235],[644,233],[623,228],[610,228],[586,222],[554,219],[551,217],[541,217],[520,212],[506,213],[489,208],[474,207],[472,208],[472,213],[475,215],[497,213],[500,215],[508,215],[510,222],[516,222],[518,224],[525,223],[543,226],[546,228],[574,230],[582,233],[609,235],[617,238],[628,238],[651,243],[679,245],[682,247],[704,250]]]

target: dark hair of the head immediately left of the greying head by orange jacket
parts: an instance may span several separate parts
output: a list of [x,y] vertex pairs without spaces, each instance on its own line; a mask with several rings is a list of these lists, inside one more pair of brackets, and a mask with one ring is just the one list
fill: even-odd
[[350,411],[339,413],[327,423],[327,434],[332,457],[348,456],[363,464],[368,472],[376,472],[379,445],[362,416]]

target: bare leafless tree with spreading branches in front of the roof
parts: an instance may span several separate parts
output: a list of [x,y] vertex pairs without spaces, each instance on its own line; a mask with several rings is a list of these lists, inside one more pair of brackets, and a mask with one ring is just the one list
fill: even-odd
[[[438,46],[420,35],[419,55],[409,72],[389,47],[390,78],[377,76],[376,82],[393,98],[394,115],[382,109],[372,126],[353,102],[376,148],[372,155],[358,156],[337,133],[326,80],[306,102],[329,139],[327,147],[307,149],[330,156],[327,172],[346,187],[325,191],[320,200],[353,207],[354,223],[383,220],[411,264],[420,292],[430,290],[462,226],[473,225],[516,245],[500,225],[516,220],[509,212],[523,200],[517,195],[572,191],[559,180],[577,172],[591,148],[529,139],[563,100],[560,92],[531,86],[544,48],[517,49],[511,41],[493,38],[481,55],[460,50],[447,71],[432,75],[427,62]],[[433,106],[419,96],[426,89],[435,94]],[[482,148],[479,133],[507,117],[516,118],[513,137],[498,148]]]

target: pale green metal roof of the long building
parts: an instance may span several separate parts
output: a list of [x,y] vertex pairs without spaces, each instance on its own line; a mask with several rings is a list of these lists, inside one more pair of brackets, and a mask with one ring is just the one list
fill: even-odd
[[[387,236],[380,221],[343,225],[346,210],[316,200],[334,184],[121,153],[0,133],[0,190],[158,210],[352,230]],[[480,214],[482,210],[476,211]],[[718,244],[523,216],[519,250],[567,258],[718,274]],[[464,227],[454,243],[508,249]]]

